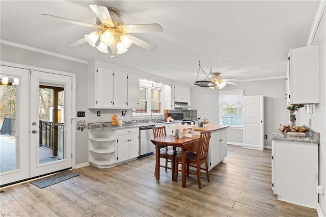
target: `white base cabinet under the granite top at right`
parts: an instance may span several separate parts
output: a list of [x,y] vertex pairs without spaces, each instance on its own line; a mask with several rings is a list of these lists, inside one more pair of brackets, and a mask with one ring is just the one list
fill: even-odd
[[273,140],[272,188],[278,199],[316,208],[318,144]]

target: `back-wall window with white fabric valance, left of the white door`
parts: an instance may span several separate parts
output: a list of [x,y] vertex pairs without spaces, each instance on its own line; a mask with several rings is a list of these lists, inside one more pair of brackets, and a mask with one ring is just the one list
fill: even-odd
[[226,90],[219,92],[220,124],[242,126],[242,97],[244,90]]

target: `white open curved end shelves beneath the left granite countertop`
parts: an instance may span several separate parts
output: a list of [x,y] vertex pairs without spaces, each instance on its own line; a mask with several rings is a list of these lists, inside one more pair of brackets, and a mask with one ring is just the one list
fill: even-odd
[[115,130],[89,129],[89,162],[98,168],[112,167],[117,162]]

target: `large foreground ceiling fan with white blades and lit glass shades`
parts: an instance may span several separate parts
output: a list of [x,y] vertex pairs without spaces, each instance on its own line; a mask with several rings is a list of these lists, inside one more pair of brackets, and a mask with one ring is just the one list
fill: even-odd
[[110,47],[112,52],[111,57],[114,57],[116,53],[121,54],[126,52],[131,44],[138,45],[147,50],[156,49],[156,46],[128,33],[161,33],[163,29],[159,24],[149,23],[125,25],[124,21],[121,19],[122,13],[120,10],[97,4],[89,4],[89,7],[97,16],[95,24],[89,24],[49,14],[41,14],[41,16],[97,29],[69,46],[78,46],[88,42],[92,47],[95,47],[99,40],[100,42],[96,48],[101,52],[108,53],[107,48]]

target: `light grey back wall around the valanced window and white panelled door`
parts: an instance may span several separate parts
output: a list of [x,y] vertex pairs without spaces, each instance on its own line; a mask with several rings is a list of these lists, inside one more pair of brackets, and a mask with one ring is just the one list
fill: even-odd
[[[285,61],[287,57],[284,57]],[[284,76],[285,76],[284,69]],[[280,124],[289,123],[285,93],[285,78],[259,80],[254,82],[239,82],[237,85],[227,85],[223,90],[244,89],[244,95],[265,96],[265,146],[271,146],[269,139],[271,133],[278,131]],[[219,124],[218,92],[212,89],[192,87],[192,108],[197,109],[198,116],[206,113],[212,124]],[[241,134],[241,135],[240,135]],[[228,129],[228,142],[230,144],[242,143],[242,129]]]

